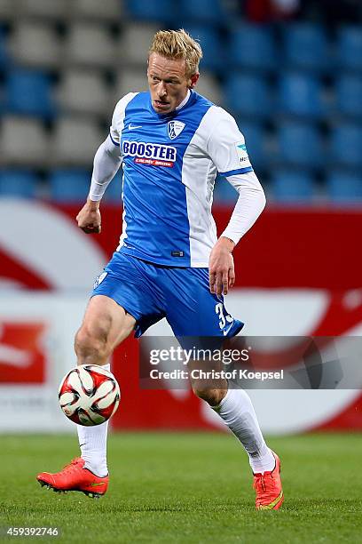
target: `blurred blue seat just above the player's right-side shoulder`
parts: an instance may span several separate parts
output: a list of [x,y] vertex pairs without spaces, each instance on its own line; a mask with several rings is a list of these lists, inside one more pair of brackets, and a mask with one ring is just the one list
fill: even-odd
[[264,118],[271,114],[271,89],[264,77],[231,74],[224,86],[226,108],[238,116]]

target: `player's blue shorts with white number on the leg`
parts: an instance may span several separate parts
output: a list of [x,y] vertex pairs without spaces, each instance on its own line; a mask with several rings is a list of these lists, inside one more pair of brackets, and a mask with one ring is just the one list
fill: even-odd
[[136,319],[138,338],[166,317],[177,338],[230,338],[243,323],[228,314],[223,296],[209,292],[209,268],[173,268],[114,252],[91,296],[105,295]]

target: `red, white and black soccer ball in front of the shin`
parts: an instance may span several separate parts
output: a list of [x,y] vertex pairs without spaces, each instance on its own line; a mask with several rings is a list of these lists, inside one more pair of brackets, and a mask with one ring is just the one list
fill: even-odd
[[96,364],[73,368],[61,380],[59,404],[69,420],[79,425],[100,425],[113,416],[121,393],[112,372]]

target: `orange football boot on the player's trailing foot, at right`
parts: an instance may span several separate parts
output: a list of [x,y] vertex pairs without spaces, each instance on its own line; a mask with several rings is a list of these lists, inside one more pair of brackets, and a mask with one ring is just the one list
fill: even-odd
[[275,467],[264,474],[254,475],[254,489],[256,490],[256,510],[279,510],[283,504],[284,495],[280,481],[280,460],[276,453]]

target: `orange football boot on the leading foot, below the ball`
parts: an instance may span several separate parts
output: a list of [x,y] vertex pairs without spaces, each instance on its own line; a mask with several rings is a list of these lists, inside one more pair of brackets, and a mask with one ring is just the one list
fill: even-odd
[[88,468],[83,468],[84,463],[81,457],[77,457],[60,472],[41,472],[36,479],[42,487],[55,492],[79,491],[93,499],[99,499],[106,493],[109,477],[99,478]]

